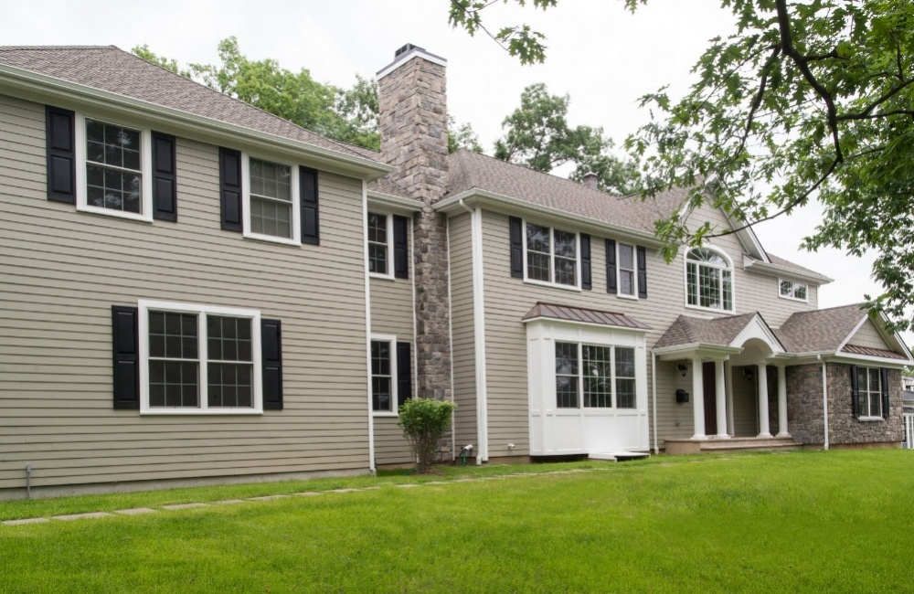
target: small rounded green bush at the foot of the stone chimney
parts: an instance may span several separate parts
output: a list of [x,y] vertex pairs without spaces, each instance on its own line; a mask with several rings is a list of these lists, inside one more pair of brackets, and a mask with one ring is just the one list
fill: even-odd
[[412,398],[399,408],[398,425],[416,456],[416,472],[429,474],[444,434],[451,429],[454,408],[446,400]]

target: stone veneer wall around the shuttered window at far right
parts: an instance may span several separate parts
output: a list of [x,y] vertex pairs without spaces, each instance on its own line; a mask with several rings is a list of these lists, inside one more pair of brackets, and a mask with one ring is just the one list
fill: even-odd
[[[887,419],[859,420],[851,408],[850,366],[829,363],[828,440],[834,446],[856,444],[898,445],[904,433],[901,372],[889,370],[889,411]],[[793,440],[802,444],[824,444],[822,366],[787,367],[787,416]]]

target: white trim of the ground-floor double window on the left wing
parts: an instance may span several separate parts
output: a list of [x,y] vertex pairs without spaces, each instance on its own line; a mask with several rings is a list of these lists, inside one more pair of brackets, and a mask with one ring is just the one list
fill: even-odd
[[[140,414],[141,415],[259,415],[263,413],[263,386],[260,373],[260,311],[246,310],[196,303],[159,302],[140,300],[139,309],[139,356],[140,356]],[[155,407],[149,406],[149,311],[196,313],[197,314],[197,360],[199,363],[199,407]],[[250,319],[251,365],[251,408],[208,408],[207,403],[207,323],[206,315]]]

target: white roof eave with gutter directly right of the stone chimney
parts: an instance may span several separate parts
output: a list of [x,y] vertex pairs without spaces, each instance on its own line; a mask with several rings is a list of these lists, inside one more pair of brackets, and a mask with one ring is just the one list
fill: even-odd
[[465,212],[461,203],[468,207],[507,207],[509,209],[535,212],[548,217],[569,221],[579,226],[579,228],[586,228],[586,230],[598,233],[609,233],[612,235],[622,235],[631,239],[636,239],[647,247],[659,248],[662,245],[654,236],[654,233],[631,227],[623,227],[622,225],[613,225],[612,223],[597,218],[576,215],[574,213],[569,213],[567,210],[561,210],[560,208],[544,207],[532,202],[527,202],[526,200],[521,200],[520,198],[496,194],[475,187],[461,192],[460,194],[448,196],[432,205],[432,207],[446,215],[454,215]]

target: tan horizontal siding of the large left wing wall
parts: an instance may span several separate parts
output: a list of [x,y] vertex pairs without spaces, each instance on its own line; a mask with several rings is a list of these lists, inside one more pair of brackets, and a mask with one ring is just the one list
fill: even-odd
[[[48,202],[44,106],[0,97],[0,489],[368,467],[361,182],[320,174],[321,245],[220,229],[218,148],[177,140],[178,222]],[[282,320],[285,407],[112,409],[111,306],[138,299]]]

